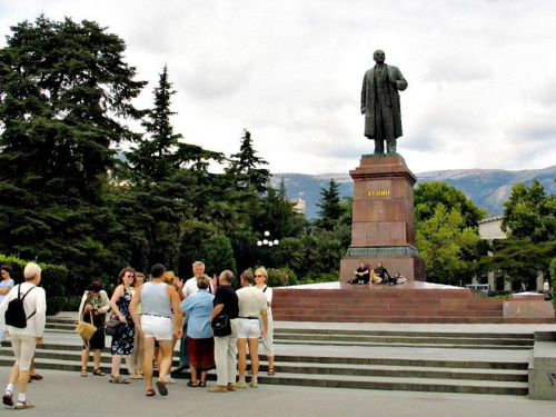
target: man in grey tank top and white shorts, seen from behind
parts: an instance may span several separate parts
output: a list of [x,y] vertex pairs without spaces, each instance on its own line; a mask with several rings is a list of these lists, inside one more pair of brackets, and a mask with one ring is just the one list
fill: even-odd
[[[165,282],[166,267],[157,264],[150,270],[151,280],[140,286],[131,300],[129,310],[131,319],[140,336],[145,337],[143,373],[147,385],[147,397],[155,396],[152,388],[152,358],[155,357],[155,340],[160,346],[162,359],[158,366],[157,388],[161,396],[168,395],[166,376],[172,363],[172,311],[178,322],[182,315],[179,308],[179,296],[172,286]],[[139,320],[137,306],[141,304],[142,316]],[[176,330],[176,337],[181,337],[181,328]]]

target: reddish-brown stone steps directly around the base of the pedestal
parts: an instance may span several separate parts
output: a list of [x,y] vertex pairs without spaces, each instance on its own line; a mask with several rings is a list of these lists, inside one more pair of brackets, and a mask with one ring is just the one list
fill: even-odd
[[[507,316],[505,305],[526,304]],[[274,289],[275,320],[317,322],[548,324],[546,301],[477,298],[465,288],[427,282],[345,285],[330,282]],[[519,311],[526,311],[525,317]],[[506,315],[506,316],[505,316]]]

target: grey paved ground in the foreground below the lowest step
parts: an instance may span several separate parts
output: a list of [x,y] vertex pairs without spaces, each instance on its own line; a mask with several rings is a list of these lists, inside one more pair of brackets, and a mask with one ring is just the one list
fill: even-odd
[[[6,384],[9,368],[0,368]],[[226,416],[226,417],[325,417],[325,416],[554,416],[554,401],[526,397],[394,393],[259,385],[236,393],[210,394],[189,388],[186,380],[169,386],[168,397],[145,397],[143,381],[112,385],[108,376],[81,378],[79,373],[42,371],[44,379],[29,385],[34,409],[17,411],[0,406],[1,415],[29,416]],[[3,385],[2,385],[3,389]]]

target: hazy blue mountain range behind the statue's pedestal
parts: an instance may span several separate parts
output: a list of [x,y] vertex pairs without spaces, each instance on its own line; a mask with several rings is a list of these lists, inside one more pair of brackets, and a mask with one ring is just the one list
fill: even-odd
[[[556,193],[556,166],[544,169],[524,171],[505,171],[502,169],[451,169],[416,173],[419,182],[439,181],[463,191],[474,203],[497,216],[504,211],[504,202],[508,199],[515,183],[530,185],[536,178],[548,193]],[[304,173],[275,173],[272,185],[278,187],[284,178],[289,198],[302,198],[306,203],[306,217],[318,216],[317,202],[321,189],[328,188],[331,178],[339,185],[340,196],[351,197],[354,181],[349,173],[322,173],[317,176]],[[416,186],[417,186],[416,185]]]

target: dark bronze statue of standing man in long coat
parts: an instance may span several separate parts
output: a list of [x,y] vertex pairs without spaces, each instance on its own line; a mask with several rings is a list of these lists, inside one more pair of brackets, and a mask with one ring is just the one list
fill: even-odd
[[396,152],[396,138],[401,133],[401,110],[398,90],[407,88],[407,81],[397,67],[384,63],[385,53],[375,51],[376,64],[365,72],[361,90],[361,113],[365,115],[365,136],[375,139],[375,153]]

